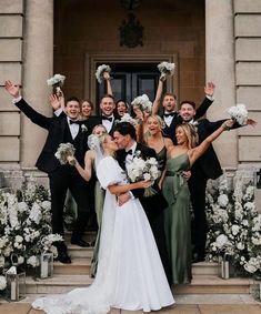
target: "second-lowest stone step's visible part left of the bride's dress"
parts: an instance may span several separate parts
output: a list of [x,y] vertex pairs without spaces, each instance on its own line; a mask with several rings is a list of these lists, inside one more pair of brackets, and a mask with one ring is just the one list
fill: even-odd
[[71,264],[53,263],[54,275],[88,275],[90,272],[91,259],[72,259]]

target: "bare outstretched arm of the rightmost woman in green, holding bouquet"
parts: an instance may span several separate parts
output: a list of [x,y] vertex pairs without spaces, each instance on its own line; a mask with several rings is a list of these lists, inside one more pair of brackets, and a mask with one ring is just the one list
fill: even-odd
[[189,152],[190,164],[192,165],[210,146],[210,144],[219,138],[223,131],[230,130],[234,124],[234,120],[230,119],[222,123],[222,125],[210,134],[199,146]]

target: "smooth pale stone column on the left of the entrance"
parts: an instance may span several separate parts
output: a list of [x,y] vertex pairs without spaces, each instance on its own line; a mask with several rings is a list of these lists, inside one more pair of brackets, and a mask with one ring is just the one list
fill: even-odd
[[[51,117],[47,79],[53,69],[53,0],[30,0],[26,6],[22,95],[37,111]],[[47,131],[22,115],[21,166],[34,166]]]

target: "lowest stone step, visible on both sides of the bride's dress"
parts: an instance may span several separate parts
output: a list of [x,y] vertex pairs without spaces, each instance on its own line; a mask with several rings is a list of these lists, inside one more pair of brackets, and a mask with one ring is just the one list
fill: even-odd
[[[66,293],[76,287],[84,287],[93,282],[89,275],[54,275],[52,278],[33,280],[27,277],[27,293],[29,294],[56,294]],[[194,275],[191,284],[174,285],[174,295],[192,294],[250,294],[250,278],[222,280],[214,275]]]

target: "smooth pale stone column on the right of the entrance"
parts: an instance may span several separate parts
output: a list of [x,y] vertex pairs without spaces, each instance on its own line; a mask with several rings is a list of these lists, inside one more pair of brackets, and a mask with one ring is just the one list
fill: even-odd
[[[215,83],[214,103],[208,119],[229,118],[225,109],[235,104],[233,0],[205,0],[205,77]],[[222,166],[238,165],[237,130],[214,142]]]

